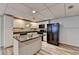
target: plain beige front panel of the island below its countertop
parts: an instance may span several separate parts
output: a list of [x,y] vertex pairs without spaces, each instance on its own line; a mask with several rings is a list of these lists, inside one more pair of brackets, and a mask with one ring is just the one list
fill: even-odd
[[33,55],[40,51],[42,47],[41,37],[35,38],[33,40],[20,43],[19,54],[20,55]]

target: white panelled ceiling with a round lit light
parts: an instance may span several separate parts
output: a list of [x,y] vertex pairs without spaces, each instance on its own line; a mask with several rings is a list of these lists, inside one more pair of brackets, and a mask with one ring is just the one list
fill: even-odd
[[[70,7],[70,8],[69,8]],[[73,8],[72,8],[73,7]],[[32,13],[36,11],[36,13]],[[0,3],[0,15],[11,14],[31,21],[79,15],[76,3]]]

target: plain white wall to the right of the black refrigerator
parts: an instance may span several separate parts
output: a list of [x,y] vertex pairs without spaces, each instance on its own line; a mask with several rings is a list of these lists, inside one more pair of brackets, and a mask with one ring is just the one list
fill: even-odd
[[60,43],[79,47],[79,16],[51,20],[60,23]]

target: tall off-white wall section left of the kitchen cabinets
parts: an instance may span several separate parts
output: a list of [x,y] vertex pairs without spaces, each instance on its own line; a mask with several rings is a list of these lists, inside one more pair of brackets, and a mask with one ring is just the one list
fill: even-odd
[[11,46],[13,44],[13,18],[4,16],[2,19],[2,40],[4,47]]

